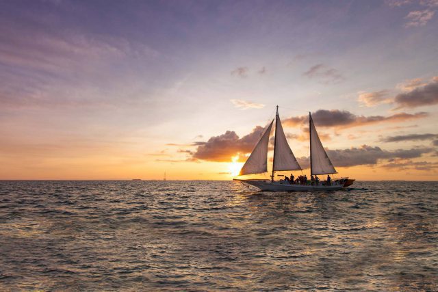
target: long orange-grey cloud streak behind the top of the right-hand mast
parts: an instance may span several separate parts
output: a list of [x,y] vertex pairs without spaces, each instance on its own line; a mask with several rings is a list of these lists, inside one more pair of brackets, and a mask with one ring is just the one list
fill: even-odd
[[[339,109],[319,109],[312,114],[313,121],[318,127],[350,128],[378,122],[404,122],[428,116],[425,112],[416,114],[400,113],[391,116],[357,116],[350,111],[339,111]],[[296,127],[309,122],[309,116],[294,116],[283,120],[288,127]]]

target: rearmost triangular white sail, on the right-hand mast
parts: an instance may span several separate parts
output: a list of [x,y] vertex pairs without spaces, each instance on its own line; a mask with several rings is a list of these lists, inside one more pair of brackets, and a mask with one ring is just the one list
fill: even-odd
[[320,137],[315,129],[315,124],[309,115],[310,128],[310,165],[311,174],[335,174],[337,173],[335,167],[327,156],[326,150],[322,146]]

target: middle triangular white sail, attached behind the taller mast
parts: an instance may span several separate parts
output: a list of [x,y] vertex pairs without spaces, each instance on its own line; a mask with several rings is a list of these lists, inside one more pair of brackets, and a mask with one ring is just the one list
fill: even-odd
[[275,124],[275,151],[274,151],[274,171],[277,170],[300,170],[301,167],[296,161],[294,153],[287,144],[287,139],[280,117],[277,116]]

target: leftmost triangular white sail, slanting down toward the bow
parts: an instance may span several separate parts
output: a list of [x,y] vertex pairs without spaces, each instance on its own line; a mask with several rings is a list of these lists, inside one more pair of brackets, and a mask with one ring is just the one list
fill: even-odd
[[261,174],[268,171],[268,143],[273,122],[274,120],[272,120],[269,127],[261,136],[253,152],[251,152],[251,155],[242,167],[242,170],[240,170],[239,175]]

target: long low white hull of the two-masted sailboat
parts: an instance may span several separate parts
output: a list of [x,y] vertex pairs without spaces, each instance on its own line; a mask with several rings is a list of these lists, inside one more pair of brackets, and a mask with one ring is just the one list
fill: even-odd
[[346,179],[339,179],[333,181],[331,185],[300,185],[300,184],[290,184],[287,181],[274,181],[273,183],[269,180],[236,180],[242,181],[242,183],[247,183],[248,185],[253,185],[261,189],[261,191],[335,191],[337,189],[342,189],[346,183]]

